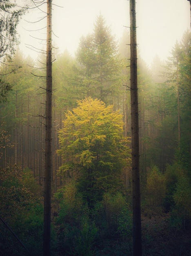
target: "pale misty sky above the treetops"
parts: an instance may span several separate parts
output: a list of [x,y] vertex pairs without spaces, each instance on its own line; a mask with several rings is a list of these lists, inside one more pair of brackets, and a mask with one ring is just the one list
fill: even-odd
[[[60,52],[65,49],[75,56],[79,40],[82,35],[92,33],[96,17],[101,13],[106,24],[111,27],[112,34],[119,40],[124,26],[129,26],[129,0],[53,0],[53,40]],[[184,31],[190,29],[190,4],[187,0],[137,0],[137,43],[140,54],[147,64],[151,64],[153,57],[158,54],[161,60],[170,55],[176,40],[180,41]],[[36,58],[37,53],[26,48],[25,44],[32,44],[42,48],[40,40],[44,38],[46,29],[35,30],[46,26],[46,19],[40,23],[27,23],[36,21],[44,14],[40,10],[30,11],[23,17],[20,33],[20,49],[23,53]],[[23,28],[24,27],[24,28]],[[31,36],[29,36],[31,35]],[[41,43],[44,43],[41,41]]]

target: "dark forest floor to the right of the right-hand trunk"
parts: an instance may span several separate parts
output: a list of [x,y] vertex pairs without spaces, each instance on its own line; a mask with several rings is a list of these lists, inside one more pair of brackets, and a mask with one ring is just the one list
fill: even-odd
[[191,256],[191,226],[178,227],[168,213],[142,218],[144,256]]

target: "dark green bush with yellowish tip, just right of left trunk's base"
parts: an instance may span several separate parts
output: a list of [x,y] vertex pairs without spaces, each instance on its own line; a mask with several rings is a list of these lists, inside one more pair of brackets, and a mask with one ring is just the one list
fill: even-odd
[[98,229],[90,219],[89,209],[71,181],[55,195],[60,200],[57,218],[59,248],[67,255],[93,255],[92,247]]

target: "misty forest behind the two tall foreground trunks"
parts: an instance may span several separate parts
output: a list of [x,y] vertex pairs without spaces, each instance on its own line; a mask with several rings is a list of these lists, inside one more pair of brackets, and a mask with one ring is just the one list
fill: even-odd
[[[129,42],[128,29],[117,42],[100,14],[75,57],[53,50],[53,256],[133,255]],[[3,256],[42,255],[43,63],[19,47],[0,63]],[[148,67],[138,52],[144,256],[191,255],[190,74],[190,31],[165,62]]]

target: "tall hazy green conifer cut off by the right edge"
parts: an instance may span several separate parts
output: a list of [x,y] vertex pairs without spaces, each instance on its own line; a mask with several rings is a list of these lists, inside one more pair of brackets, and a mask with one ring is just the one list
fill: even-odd
[[[182,40],[175,44],[171,51],[171,56],[166,65],[166,82],[164,84],[164,96],[166,101],[165,119],[171,127],[171,135],[176,131],[176,136],[169,136],[174,140],[174,148],[179,150],[181,159],[182,153],[191,152],[191,33],[185,31]],[[169,94],[170,93],[170,94]],[[169,104],[170,103],[170,104]],[[176,110],[176,111],[174,111]],[[168,114],[168,117],[167,117]],[[169,119],[172,119],[171,121]],[[163,121],[164,122],[164,121]],[[171,123],[171,125],[170,125]],[[175,128],[173,128],[173,126]],[[167,131],[167,129],[165,129]],[[164,129],[161,132],[165,132]],[[178,144],[177,142],[178,141]],[[168,143],[169,144],[169,143]],[[183,150],[184,148],[184,150]],[[190,148],[190,149],[189,149]],[[183,152],[184,151],[184,152]],[[189,153],[190,153],[189,152]],[[187,154],[188,155],[188,154]],[[184,162],[189,166],[190,160]]]

